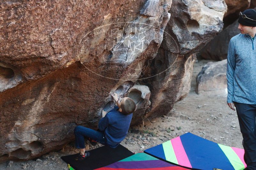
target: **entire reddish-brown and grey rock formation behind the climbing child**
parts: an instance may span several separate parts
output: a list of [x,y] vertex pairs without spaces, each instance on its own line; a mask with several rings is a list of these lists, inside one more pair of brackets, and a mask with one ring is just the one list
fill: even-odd
[[60,150],[77,125],[97,128],[114,92],[136,101],[132,124],[167,114],[189,94],[201,48],[246,4],[1,2],[0,162]]

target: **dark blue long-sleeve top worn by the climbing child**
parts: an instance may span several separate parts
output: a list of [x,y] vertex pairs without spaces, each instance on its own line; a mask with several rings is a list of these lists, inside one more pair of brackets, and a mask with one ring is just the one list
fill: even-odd
[[98,124],[98,129],[104,131],[107,144],[117,147],[126,137],[132,120],[132,113],[124,115],[117,111],[118,106],[110,110],[105,117],[102,117]]

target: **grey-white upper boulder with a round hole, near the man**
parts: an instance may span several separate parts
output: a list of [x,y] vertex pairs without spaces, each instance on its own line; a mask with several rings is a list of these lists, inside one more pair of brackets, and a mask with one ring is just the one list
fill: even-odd
[[222,31],[226,11],[224,0],[173,1],[161,47],[175,54],[198,52]]

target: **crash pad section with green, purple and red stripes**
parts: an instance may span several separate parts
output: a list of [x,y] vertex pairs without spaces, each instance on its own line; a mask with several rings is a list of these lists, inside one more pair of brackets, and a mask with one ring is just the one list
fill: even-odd
[[111,165],[97,170],[186,170],[180,166],[172,165],[146,153],[139,152]]

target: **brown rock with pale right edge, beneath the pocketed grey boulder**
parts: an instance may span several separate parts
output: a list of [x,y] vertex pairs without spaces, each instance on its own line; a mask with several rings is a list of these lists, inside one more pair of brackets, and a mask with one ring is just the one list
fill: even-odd
[[[161,52],[166,52],[162,49]],[[156,117],[167,114],[174,103],[185,98],[190,91],[190,82],[196,55],[178,55],[166,57],[158,53],[151,62],[151,69],[144,75],[155,75],[148,79],[140,80],[151,90],[151,106],[146,117]],[[171,56],[171,54],[169,54]],[[172,59],[172,60],[171,60]]]

